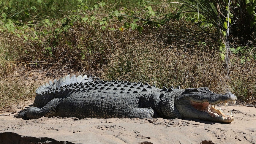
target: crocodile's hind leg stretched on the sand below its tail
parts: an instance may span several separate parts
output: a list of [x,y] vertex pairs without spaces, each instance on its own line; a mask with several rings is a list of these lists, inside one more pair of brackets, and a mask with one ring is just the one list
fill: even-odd
[[21,113],[14,115],[14,117],[29,119],[37,119],[42,116],[52,117],[55,113],[57,113],[57,106],[59,105],[59,100],[60,98],[54,98],[42,108],[29,107]]

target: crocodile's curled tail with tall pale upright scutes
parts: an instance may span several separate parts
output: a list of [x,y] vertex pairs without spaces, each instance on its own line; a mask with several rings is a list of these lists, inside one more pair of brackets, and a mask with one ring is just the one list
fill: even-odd
[[64,97],[67,94],[72,92],[72,86],[75,86],[80,83],[90,83],[94,81],[94,77],[87,75],[67,75],[59,80],[49,81],[42,86],[39,86],[36,90],[36,97],[33,106],[34,107],[43,107],[48,102],[56,97]]

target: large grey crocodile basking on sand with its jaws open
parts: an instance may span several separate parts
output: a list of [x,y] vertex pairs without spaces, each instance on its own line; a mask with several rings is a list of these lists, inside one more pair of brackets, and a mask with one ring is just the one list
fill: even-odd
[[77,118],[196,118],[221,123],[234,120],[218,103],[236,103],[232,93],[216,94],[207,87],[157,88],[148,83],[94,80],[87,75],[67,75],[36,90],[32,107],[16,118],[42,116]]

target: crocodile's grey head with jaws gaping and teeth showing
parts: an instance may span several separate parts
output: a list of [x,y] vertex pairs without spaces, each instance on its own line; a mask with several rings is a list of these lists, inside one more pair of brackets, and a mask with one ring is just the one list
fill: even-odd
[[236,99],[232,93],[216,94],[207,87],[187,88],[175,98],[174,105],[183,118],[230,123],[234,120],[231,111],[224,114],[221,108],[218,109],[215,105],[223,102],[226,106],[229,101],[235,104]]

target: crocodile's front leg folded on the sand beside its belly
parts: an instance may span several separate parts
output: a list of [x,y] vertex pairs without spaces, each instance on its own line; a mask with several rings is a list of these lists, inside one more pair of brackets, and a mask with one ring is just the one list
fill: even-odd
[[128,114],[127,117],[128,118],[150,118],[152,119],[154,115],[154,110],[150,109],[150,108],[133,108],[131,109]]

